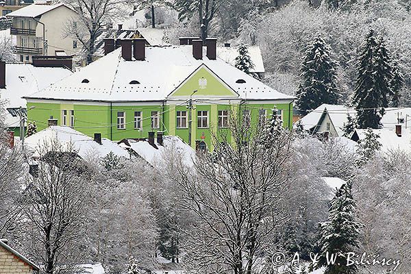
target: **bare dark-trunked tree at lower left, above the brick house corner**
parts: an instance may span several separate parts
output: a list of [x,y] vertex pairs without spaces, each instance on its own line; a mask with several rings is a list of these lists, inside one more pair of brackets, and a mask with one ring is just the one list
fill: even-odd
[[33,177],[27,177],[25,241],[47,274],[64,273],[82,262],[77,257],[84,229],[88,180],[84,164],[56,140],[38,149],[40,160]]

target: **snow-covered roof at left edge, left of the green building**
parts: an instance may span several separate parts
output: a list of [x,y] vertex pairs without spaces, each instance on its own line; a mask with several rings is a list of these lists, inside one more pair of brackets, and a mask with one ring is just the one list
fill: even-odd
[[[5,108],[26,107],[23,97],[47,88],[60,79],[71,75],[69,69],[42,68],[32,64],[5,64],[5,88],[0,89],[0,100]],[[8,126],[18,125],[18,118],[6,113]]]

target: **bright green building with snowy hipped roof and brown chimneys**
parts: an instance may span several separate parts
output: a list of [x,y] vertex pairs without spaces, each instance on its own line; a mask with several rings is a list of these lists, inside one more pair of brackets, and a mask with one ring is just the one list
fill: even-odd
[[168,47],[122,40],[119,49],[113,40],[105,42],[103,58],[25,97],[28,119],[39,130],[65,125],[111,140],[163,132],[209,147],[210,131],[227,127],[228,116],[240,109],[250,113],[251,123],[276,109],[284,127],[292,127],[294,97],[216,58],[213,38],[204,47],[196,40]]

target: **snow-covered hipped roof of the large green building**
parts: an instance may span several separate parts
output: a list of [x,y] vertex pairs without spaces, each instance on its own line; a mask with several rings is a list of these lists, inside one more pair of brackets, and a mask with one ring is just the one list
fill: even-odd
[[[160,101],[184,80],[205,65],[218,75],[239,99],[292,100],[257,79],[217,58],[192,57],[192,46],[146,47],[145,61],[125,61],[121,49],[92,62],[79,72],[27,98],[84,101]],[[244,84],[236,83],[244,79]],[[87,81],[84,81],[87,80]],[[140,84],[129,84],[132,80]],[[87,83],[84,83],[87,82]]]

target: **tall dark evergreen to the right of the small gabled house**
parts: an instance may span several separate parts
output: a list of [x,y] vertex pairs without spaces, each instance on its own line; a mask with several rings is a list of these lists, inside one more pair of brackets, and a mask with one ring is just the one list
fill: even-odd
[[384,108],[388,106],[388,96],[392,94],[391,79],[393,73],[384,38],[381,36],[377,41],[370,29],[360,54],[353,97],[359,128],[379,128]]

